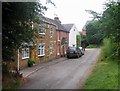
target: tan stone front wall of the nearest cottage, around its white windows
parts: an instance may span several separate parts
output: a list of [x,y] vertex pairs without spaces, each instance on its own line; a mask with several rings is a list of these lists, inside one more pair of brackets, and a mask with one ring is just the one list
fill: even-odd
[[[30,47],[30,58],[34,59],[36,63],[42,63],[45,61],[50,61],[56,57],[56,27],[55,25],[45,23],[45,34],[39,34],[39,24],[34,24],[34,41],[35,45]],[[53,31],[53,36],[50,37],[50,30]],[[45,55],[38,56],[38,45],[40,43],[45,43]],[[52,53],[50,53],[50,43],[53,44]],[[20,51],[20,68],[25,68],[28,66],[28,59],[22,59],[22,52]]]

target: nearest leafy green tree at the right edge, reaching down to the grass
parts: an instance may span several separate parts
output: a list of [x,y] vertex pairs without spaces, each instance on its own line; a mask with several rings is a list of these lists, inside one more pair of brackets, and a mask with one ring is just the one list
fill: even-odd
[[120,2],[109,2],[100,19],[100,28],[104,31],[105,37],[113,42],[113,55],[116,58],[120,56]]

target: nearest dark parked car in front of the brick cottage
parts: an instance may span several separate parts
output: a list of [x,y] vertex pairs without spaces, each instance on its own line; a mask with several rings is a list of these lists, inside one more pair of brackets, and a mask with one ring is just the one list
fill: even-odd
[[68,47],[67,49],[67,58],[70,58],[70,57],[81,57],[82,56],[82,53],[81,53],[81,50],[77,47]]

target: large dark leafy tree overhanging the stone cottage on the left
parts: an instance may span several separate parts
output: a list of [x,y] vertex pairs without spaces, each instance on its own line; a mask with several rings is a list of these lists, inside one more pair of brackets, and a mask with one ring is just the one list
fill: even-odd
[[37,2],[3,2],[2,3],[2,60],[14,60],[15,50],[22,43],[29,43],[33,39],[35,22],[46,10]]

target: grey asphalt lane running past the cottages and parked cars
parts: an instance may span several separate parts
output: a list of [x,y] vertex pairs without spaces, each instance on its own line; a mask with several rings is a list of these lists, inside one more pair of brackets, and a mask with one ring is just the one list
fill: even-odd
[[21,89],[81,89],[90,75],[100,49],[86,49],[85,55],[46,66],[28,77]]

